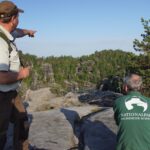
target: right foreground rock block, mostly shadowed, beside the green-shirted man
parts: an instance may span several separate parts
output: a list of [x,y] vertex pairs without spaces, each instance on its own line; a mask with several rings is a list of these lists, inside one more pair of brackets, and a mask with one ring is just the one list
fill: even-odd
[[112,109],[102,109],[84,118],[81,132],[81,150],[115,150],[117,126]]

